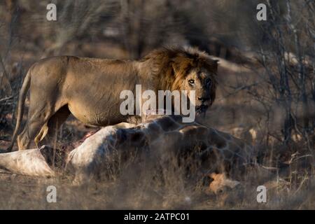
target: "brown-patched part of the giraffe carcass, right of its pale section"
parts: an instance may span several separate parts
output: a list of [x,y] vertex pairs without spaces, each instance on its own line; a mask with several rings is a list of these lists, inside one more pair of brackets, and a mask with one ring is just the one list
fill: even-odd
[[124,148],[195,153],[214,172],[230,172],[232,167],[238,169],[253,162],[253,148],[244,141],[197,122],[183,123],[181,116],[149,117],[145,123],[120,132],[124,135]]

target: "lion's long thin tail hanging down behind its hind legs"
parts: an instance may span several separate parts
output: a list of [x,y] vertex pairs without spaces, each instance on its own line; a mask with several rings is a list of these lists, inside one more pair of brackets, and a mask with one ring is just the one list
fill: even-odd
[[29,90],[30,83],[31,83],[31,69],[29,69],[29,71],[27,72],[27,75],[25,76],[25,79],[23,81],[22,88],[20,90],[19,102],[18,102],[18,116],[16,118],[15,130],[13,132],[10,146],[8,146],[8,148],[6,149],[6,151],[8,152],[12,151],[14,142],[20,130],[20,125],[22,123],[22,118],[23,118],[23,113],[24,113],[25,98],[27,96],[27,91]]

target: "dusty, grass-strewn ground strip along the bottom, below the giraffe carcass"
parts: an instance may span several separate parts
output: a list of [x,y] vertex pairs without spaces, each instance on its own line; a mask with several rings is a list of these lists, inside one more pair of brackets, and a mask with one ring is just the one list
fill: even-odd
[[[314,180],[290,189],[282,179],[265,183],[267,203],[256,201],[256,186],[214,195],[207,186],[158,186],[148,178],[116,179],[90,186],[71,185],[68,177],[37,179],[0,170],[0,209],[314,209]],[[57,202],[48,203],[48,186]]]

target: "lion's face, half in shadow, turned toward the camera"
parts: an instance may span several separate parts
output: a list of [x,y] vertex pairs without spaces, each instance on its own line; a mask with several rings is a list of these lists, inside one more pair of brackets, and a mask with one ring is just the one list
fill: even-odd
[[[182,90],[195,90],[197,113],[204,113],[214,102],[216,92],[214,73],[207,69],[191,69],[182,83]],[[188,94],[189,96],[189,94]]]

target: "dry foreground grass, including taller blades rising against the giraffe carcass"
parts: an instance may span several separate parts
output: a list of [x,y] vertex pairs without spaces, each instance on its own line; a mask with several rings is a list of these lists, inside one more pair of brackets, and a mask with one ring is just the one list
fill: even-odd
[[[0,173],[0,209],[314,209],[315,182],[308,169],[292,165],[264,179],[267,203],[256,201],[261,176],[244,176],[241,186],[214,194],[211,179],[169,160],[161,165],[130,158],[117,163],[102,181],[71,185],[69,174],[52,179]],[[189,165],[190,164],[190,165]],[[193,166],[194,167],[194,166]],[[195,167],[197,168],[197,167]],[[262,182],[261,182],[262,183]],[[46,201],[56,186],[57,202]]]

